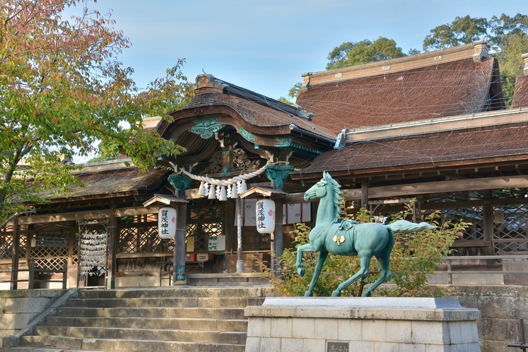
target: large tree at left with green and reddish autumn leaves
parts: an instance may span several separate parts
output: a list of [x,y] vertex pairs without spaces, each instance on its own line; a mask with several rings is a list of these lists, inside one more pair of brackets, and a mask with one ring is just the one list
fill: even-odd
[[[64,18],[66,7],[78,16]],[[140,91],[117,57],[130,42],[88,0],[0,0],[0,226],[43,190],[65,192],[95,143],[117,144],[141,170],[182,151],[142,117],[165,116],[192,92],[178,60]],[[122,127],[122,123],[129,127]],[[28,187],[28,181],[31,186]]]

